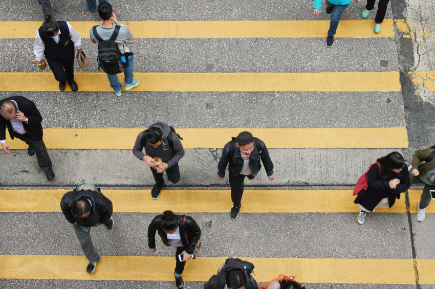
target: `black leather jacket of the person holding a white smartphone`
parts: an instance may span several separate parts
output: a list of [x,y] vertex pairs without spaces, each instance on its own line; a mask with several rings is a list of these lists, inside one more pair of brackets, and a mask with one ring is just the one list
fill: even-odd
[[[158,232],[159,236],[162,238],[163,243],[166,246],[168,245],[168,238],[163,231],[162,228],[162,216],[163,215],[157,215],[152,221],[151,224],[148,226],[148,248],[154,249],[156,248],[156,231]],[[192,254],[195,250],[196,244],[199,242],[201,237],[201,229],[198,226],[197,222],[195,222],[194,219],[192,219],[189,216],[184,215],[175,215],[178,219],[178,224],[180,226],[180,237],[181,237],[181,243],[183,244],[183,247],[186,248],[186,253]]]

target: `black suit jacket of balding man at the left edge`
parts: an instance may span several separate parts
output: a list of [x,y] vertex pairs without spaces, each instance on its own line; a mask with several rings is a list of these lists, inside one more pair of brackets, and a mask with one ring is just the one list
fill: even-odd
[[[36,108],[35,103],[23,96],[11,96],[2,99],[0,101],[0,105],[2,105],[5,100],[14,100],[18,105],[19,111],[29,119],[28,123],[23,122],[23,126],[24,129],[26,129],[27,134],[36,140],[42,140],[42,116],[39,113],[39,110]],[[0,140],[6,139],[6,128],[8,128],[9,135],[13,140],[14,134],[16,134],[16,132],[12,129],[11,121],[6,120],[2,115],[0,115]]]

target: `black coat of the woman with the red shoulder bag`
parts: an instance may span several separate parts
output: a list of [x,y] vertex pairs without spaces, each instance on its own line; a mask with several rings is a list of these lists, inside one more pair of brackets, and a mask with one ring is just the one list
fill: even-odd
[[[382,166],[382,165],[381,165]],[[389,187],[389,181],[393,179],[399,179],[400,184],[396,186],[395,190]],[[409,181],[408,166],[404,166],[399,173],[390,172],[388,177],[382,177],[379,175],[378,164],[368,170],[367,173],[367,190],[362,190],[355,199],[355,204],[361,204],[367,210],[373,212],[381,199],[388,198],[389,207],[393,207],[396,202],[396,198],[400,198],[400,193],[403,193],[411,186]]]

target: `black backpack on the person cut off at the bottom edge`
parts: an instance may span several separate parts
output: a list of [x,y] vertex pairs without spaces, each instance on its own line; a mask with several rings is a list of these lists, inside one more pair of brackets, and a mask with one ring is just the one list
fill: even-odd
[[211,277],[212,279],[214,279],[213,280],[214,286],[210,288],[212,289],[224,288],[225,277],[227,275],[227,272],[235,268],[241,268],[245,271],[246,280],[249,280],[249,283],[246,284],[245,286],[246,289],[258,289],[257,282],[251,276],[251,274],[254,272],[254,264],[248,261],[243,261],[238,258],[228,258],[225,260],[225,264],[223,264],[222,267],[219,270],[217,270],[217,274]]

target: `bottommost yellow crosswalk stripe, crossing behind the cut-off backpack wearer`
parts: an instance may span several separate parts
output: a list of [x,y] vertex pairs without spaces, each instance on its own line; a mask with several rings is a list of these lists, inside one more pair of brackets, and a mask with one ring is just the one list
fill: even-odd
[[[208,281],[225,259],[198,257],[187,261],[183,279]],[[412,259],[243,259],[254,263],[254,278],[258,282],[272,280],[280,273],[296,275],[298,281],[308,283],[415,282]],[[102,256],[94,274],[85,272],[87,263],[84,256],[1,255],[0,278],[173,281],[175,260],[173,257]]]

